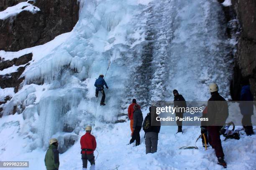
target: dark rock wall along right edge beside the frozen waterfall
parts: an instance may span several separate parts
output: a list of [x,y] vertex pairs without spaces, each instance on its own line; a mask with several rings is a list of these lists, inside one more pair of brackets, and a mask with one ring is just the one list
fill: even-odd
[[231,84],[232,98],[239,100],[241,79],[248,77],[251,92],[256,100],[256,1],[232,0],[232,8],[236,11],[241,25]]

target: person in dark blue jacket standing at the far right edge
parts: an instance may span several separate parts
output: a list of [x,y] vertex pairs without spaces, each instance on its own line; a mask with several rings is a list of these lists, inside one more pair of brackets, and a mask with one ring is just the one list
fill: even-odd
[[243,115],[242,125],[246,132],[246,135],[253,135],[253,126],[251,123],[251,116],[253,115],[253,95],[251,94],[250,85],[248,79],[243,80],[241,83],[241,95],[240,95],[240,110]]

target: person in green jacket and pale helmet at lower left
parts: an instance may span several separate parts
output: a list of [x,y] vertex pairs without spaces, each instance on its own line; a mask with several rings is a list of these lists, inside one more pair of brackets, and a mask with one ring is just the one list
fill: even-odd
[[52,138],[49,142],[50,146],[44,158],[44,163],[47,170],[59,170],[59,151],[58,140]]

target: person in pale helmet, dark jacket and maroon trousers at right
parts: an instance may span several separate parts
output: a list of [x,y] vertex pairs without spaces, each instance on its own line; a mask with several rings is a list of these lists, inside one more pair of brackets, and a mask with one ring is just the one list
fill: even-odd
[[223,148],[220,140],[220,129],[225,125],[225,121],[228,118],[228,103],[226,100],[218,93],[219,87],[217,84],[213,83],[210,85],[211,97],[207,103],[207,116],[208,126],[207,131],[208,141],[212,148],[215,149],[215,155],[218,158],[218,164],[222,165],[224,168],[227,164],[224,160]]

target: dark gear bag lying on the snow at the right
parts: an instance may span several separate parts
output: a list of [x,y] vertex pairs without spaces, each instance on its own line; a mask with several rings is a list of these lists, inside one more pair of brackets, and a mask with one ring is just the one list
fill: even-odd
[[[229,130],[228,128],[233,125],[232,130]],[[233,122],[229,122],[226,125],[223,126],[223,128],[220,129],[220,134],[225,137],[225,140],[227,139],[236,139],[239,140],[239,132],[238,130],[235,130],[235,125]]]

